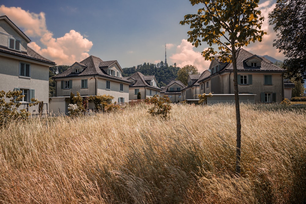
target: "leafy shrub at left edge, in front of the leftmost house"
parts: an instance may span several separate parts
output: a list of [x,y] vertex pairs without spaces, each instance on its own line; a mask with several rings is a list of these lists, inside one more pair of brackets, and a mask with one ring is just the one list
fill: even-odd
[[[21,95],[22,91],[0,91],[0,126],[6,125],[9,121],[26,120],[31,115],[29,111],[25,109],[18,110],[21,102],[19,102],[24,95]],[[6,102],[4,97],[9,98],[9,102]],[[37,99],[32,98],[29,106],[35,106],[39,103]]]

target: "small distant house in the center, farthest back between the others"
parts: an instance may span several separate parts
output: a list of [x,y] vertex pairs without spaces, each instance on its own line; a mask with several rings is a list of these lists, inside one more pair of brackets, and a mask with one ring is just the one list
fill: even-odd
[[167,95],[172,102],[183,101],[181,90],[186,88],[181,81],[171,81],[166,87],[160,91],[160,95]]

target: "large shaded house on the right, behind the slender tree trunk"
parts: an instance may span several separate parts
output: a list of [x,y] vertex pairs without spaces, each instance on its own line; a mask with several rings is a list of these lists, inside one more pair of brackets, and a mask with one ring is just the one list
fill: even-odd
[[[200,94],[210,93],[232,95],[233,64],[223,63],[215,58],[211,61],[210,75],[198,83]],[[241,49],[237,56],[239,94],[255,95],[255,102],[281,102],[284,99],[284,70],[264,57]]]

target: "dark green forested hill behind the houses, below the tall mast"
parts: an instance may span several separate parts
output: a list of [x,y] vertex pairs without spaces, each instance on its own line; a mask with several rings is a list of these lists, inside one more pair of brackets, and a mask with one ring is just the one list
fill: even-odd
[[180,68],[175,64],[174,66],[163,63],[161,61],[157,65],[151,63],[144,63],[136,67],[123,68],[122,76],[131,76],[135,72],[141,72],[143,75],[155,75],[157,86],[166,86],[172,80],[177,78],[177,71]]

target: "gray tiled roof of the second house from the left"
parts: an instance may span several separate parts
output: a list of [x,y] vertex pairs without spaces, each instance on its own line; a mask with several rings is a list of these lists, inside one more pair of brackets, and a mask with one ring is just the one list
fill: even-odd
[[[57,76],[54,76],[53,78],[63,78],[63,77],[74,77],[74,76],[103,76],[106,78],[110,78],[110,79],[115,79],[115,80],[120,80],[120,81],[124,81],[127,83],[131,83],[129,80],[127,80],[125,77],[122,78],[118,78],[115,76],[110,76],[108,75],[106,72],[103,71],[103,67],[108,67],[110,65],[113,65],[114,63],[118,62],[116,60],[112,60],[112,61],[102,61],[99,57],[95,57],[95,56],[89,56],[86,59],[84,59],[83,61],[80,61],[79,64],[84,65],[84,67],[86,67],[86,69],[84,69],[82,72],[80,73],[75,73],[72,70],[72,67],[68,68],[65,72],[58,74]],[[119,65],[119,64],[118,64]],[[119,65],[120,67],[120,65]]]

